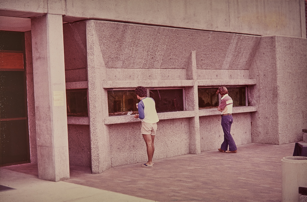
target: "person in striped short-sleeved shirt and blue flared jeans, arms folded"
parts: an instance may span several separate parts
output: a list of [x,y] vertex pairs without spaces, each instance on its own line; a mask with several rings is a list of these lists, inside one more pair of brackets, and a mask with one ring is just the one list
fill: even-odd
[[[220,87],[216,94],[220,93],[222,96],[222,101],[219,107],[217,107],[217,110],[222,112],[222,121],[221,125],[224,132],[224,142],[221,145],[221,148],[219,149],[220,152],[226,152],[226,153],[237,153],[237,146],[235,145],[235,141],[233,140],[230,129],[231,124],[233,122],[232,117],[232,99],[228,95],[228,90],[226,87],[222,86]],[[229,146],[229,150],[228,149]]]

